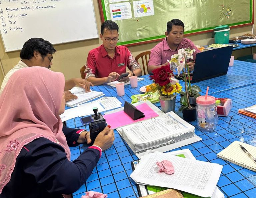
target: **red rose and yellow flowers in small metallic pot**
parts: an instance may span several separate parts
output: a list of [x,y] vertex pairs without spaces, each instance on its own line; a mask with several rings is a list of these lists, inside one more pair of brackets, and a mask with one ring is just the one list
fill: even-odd
[[179,80],[174,78],[173,71],[169,65],[152,71],[153,75],[149,76],[153,80],[153,84],[147,86],[149,95],[153,93],[159,94],[160,105],[163,112],[175,111],[175,100],[177,93],[180,93],[182,87]]

